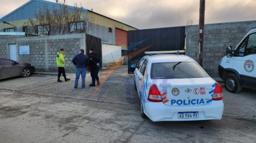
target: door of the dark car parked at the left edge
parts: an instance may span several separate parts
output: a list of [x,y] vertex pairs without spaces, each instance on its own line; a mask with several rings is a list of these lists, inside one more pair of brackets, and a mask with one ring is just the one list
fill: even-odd
[[2,78],[21,75],[21,67],[15,61],[11,61],[9,59],[1,59],[0,67]]

